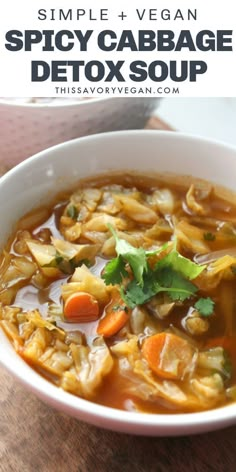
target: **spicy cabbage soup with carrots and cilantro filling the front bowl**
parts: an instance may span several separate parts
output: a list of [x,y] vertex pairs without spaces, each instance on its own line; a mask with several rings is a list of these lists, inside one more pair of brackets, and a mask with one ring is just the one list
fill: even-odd
[[71,394],[195,412],[236,400],[236,198],[189,178],[81,181],[1,255],[0,324]]

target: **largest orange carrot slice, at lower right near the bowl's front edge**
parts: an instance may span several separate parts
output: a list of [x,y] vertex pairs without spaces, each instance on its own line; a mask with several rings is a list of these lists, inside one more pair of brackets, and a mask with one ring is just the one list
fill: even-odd
[[159,377],[181,379],[191,365],[193,348],[181,337],[163,332],[144,341],[142,354]]

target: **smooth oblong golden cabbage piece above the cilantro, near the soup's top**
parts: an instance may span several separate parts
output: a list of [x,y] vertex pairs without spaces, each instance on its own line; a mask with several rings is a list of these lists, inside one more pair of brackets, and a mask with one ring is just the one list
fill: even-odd
[[157,221],[157,214],[147,205],[139,203],[132,197],[125,195],[115,195],[115,201],[121,205],[121,210],[131,220],[137,223],[154,224]]

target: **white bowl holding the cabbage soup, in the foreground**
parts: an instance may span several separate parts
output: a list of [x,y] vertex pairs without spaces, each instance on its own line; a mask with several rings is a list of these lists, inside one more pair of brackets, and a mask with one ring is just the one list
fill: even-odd
[[[81,177],[99,172],[136,169],[188,174],[235,189],[236,149],[198,137],[126,131],[74,140],[32,157],[0,180],[0,245],[14,222],[27,210],[48,201]],[[142,435],[193,434],[236,423],[236,403],[189,414],[141,414],[82,400],[38,375],[14,351],[0,331],[0,361],[42,400],[96,426]]]

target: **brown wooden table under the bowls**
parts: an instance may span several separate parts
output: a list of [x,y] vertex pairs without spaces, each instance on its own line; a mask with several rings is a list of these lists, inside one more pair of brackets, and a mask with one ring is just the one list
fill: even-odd
[[[157,118],[147,127],[170,129]],[[128,436],[53,410],[2,366],[0,379],[1,472],[236,471],[236,426],[178,438]]]

